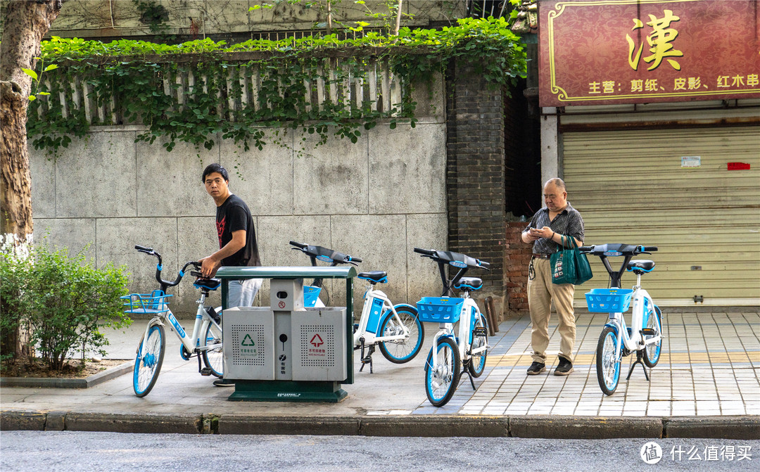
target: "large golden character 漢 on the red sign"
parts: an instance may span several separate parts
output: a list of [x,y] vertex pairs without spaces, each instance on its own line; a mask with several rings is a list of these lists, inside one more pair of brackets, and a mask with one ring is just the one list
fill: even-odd
[[[682,56],[683,52],[678,49],[673,49],[673,44],[671,44],[673,40],[676,40],[678,31],[675,28],[671,28],[670,24],[675,21],[680,21],[681,18],[676,17],[676,15],[673,14],[673,11],[665,10],[664,17],[657,18],[654,14],[650,14],[649,19],[650,21],[648,21],[647,24],[652,27],[652,33],[647,36],[647,43],[651,46],[649,52],[652,54],[645,57],[644,62],[651,63],[651,66],[647,69],[648,71],[651,71],[659,67],[660,62],[662,62],[663,59],[667,57]],[[634,27],[632,27],[631,30],[638,30],[639,28],[644,27],[644,22],[638,18],[633,19],[633,24]],[[640,44],[638,46],[638,52],[635,52],[636,45],[629,34],[625,35],[625,40],[628,41],[629,46],[628,63],[631,68],[636,71],[638,70],[638,61],[641,59],[641,48],[644,45]],[[667,62],[672,68],[676,69],[676,71],[681,70],[681,65],[673,59],[667,59]]]

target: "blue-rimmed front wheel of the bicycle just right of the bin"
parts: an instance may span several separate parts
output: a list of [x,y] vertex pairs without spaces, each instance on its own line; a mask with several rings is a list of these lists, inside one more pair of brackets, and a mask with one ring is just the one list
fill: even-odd
[[[432,368],[432,354],[438,361],[436,369]],[[442,407],[451,400],[451,396],[459,385],[461,375],[461,360],[459,349],[451,337],[439,338],[438,346],[430,349],[425,364],[425,392],[434,407]]]

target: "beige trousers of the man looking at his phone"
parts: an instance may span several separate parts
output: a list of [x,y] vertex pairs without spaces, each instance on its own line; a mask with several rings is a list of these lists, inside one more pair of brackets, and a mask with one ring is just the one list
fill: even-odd
[[552,263],[549,259],[534,259],[535,276],[527,280],[527,303],[530,308],[530,347],[533,348],[533,360],[546,363],[546,347],[549,346],[549,316],[552,301],[559,318],[559,354],[572,361],[575,345],[575,310],[572,297],[575,293],[573,284],[552,284]]

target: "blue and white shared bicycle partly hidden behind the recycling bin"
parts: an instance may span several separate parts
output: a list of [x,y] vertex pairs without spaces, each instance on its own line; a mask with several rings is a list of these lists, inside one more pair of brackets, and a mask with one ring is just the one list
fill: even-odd
[[[317,259],[329,262],[331,266],[356,265],[356,262],[362,261],[321,246],[309,246],[295,241],[291,241],[290,244],[296,246],[293,249],[299,249],[308,255],[312,265],[316,265]],[[382,355],[391,363],[401,364],[413,360],[420,352],[425,338],[425,329],[417,318],[416,308],[406,303],[394,305],[382,290],[375,289],[375,284],[388,283],[387,272],[360,272],[356,277],[369,283],[364,293],[362,315],[359,322],[353,325],[353,349],[361,350],[362,366],[359,372],[369,364],[369,372],[372,373],[372,354],[375,353],[375,347],[379,347]],[[304,306],[317,306],[320,287],[319,279],[314,280],[311,286],[303,287]]]

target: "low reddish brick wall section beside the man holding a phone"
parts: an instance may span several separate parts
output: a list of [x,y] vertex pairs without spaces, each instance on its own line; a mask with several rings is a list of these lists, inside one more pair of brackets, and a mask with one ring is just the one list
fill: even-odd
[[505,312],[527,312],[527,267],[530,264],[532,246],[522,242],[520,233],[527,223],[507,221],[505,223],[506,256],[505,288],[507,302]]

